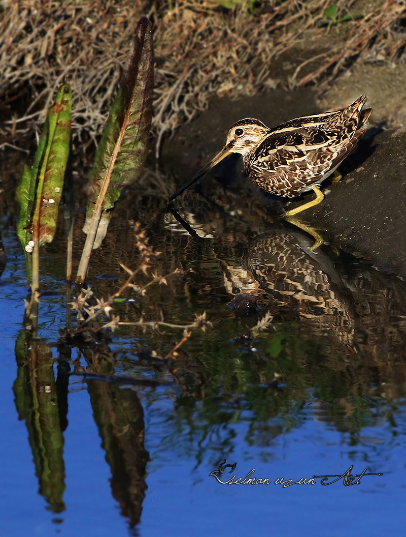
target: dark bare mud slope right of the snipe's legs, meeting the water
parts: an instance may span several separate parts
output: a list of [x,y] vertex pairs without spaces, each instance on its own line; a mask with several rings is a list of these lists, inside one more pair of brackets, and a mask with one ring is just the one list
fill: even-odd
[[[367,143],[371,142],[371,146]],[[325,204],[307,215],[334,235],[340,248],[378,269],[406,277],[406,136],[382,132],[365,140],[347,165],[371,155],[343,182],[330,187]],[[345,170],[345,166],[343,166]]]

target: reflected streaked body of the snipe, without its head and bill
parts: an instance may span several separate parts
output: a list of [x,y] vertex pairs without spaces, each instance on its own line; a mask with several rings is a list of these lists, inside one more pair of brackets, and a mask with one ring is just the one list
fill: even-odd
[[248,245],[245,265],[281,312],[311,320],[319,335],[333,329],[352,346],[354,314],[348,292],[332,260],[310,246],[309,238],[296,231],[259,235]]

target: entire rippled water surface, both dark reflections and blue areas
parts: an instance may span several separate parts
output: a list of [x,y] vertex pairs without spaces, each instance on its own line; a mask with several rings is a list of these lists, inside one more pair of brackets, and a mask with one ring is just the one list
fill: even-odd
[[[44,249],[39,339],[29,339],[24,256],[14,229],[3,233],[2,534],[399,534],[405,282],[337,250],[328,230],[330,244],[312,251],[309,234],[254,194],[187,193],[170,212],[173,185],[154,177],[142,196],[127,193],[89,284],[107,296],[125,279],[117,262],[137,266],[129,220],[140,221],[162,252],[156,270],[185,274],[117,313],[189,324],[206,311],[213,324],[175,361],[162,357],[181,329],[126,326],[57,345],[62,235]],[[118,281],[96,278],[106,273]],[[275,484],[351,467],[382,475]],[[254,470],[271,484],[221,484],[213,470],[225,482]]]

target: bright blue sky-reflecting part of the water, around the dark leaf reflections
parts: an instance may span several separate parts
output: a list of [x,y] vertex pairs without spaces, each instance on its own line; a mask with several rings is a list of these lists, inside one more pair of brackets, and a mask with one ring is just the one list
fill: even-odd
[[[217,399],[219,394],[209,392],[200,401],[190,403],[187,397],[182,398],[182,390],[176,384],[155,389],[123,386],[118,393],[136,391],[144,410],[145,448],[149,453],[140,523],[130,527],[128,517],[112,495],[111,466],[95,424],[87,384],[80,375],[72,375],[69,425],[63,433],[65,509],[52,512],[39,494],[26,423],[18,419],[12,390],[17,371],[14,345],[22,329],[27,289],[24,258],[19,255],[12,233],[6,237],[5,247],[9,260],[0,287],[1,535],[402,533],[406,523],[406,398],[401,376],[394,385],[396,394],[394,386],[388,396],[385,387],[374,397],[358,394],[357,405],[364,408],[364,425],[358,429],[351,425],[351,406],[348,416],[341,413],[333,423],[326,415],[325,402],[320,401],[312,386],[302,387],[302,399],[288,400],[284,411],[264,419],[248,404],[247,394],[242,402],[233,403],[232,398]],[[49,342],[56,341],[58,328],[64,322],[63,286],[58,281],[54,286],[55,293],[41,304],[44,323],[40,336]],[[240,326],[240,321],[236,323]],[[120,344],[125,351],[128,342],[121,342],[117,336],[117,348]],[[235,353],[230,363],[240,367],[244,356],[232,345],[230,348]],[[55,358],[55,347],[51,349]],[[201,352],[204,354],[204,350]],[[249,362],[244,367],[246,371]],[[125,371],[129,365],[118,364],[117,368]],[[144,373],[152,375],[148,367]],[[104,381],[95,382],[110,386]],[[280,396],[285,389],[281,385]],[[276,400],[280,396],[275,395]],[[219,414],[221,409],[224,415]],[[134,458],[137,456],[134,452]],[[223,474],[224,481],[234,474],[236,478],[245,477],[254,469],[255,477],[268,478],[272,484],[218,483],[209,474],[224,459],[227,464],[237,463],[232,474]],[[343,474],[350,466],[354,466],[354,474],[366,469],[367,473],[383,475],[363,476],[360,484],[348,487],[343,486],[343,480],[322,486],[320,479],[315,484],[287,488],[274,484],[278,478],[298,481],[313,475]]]

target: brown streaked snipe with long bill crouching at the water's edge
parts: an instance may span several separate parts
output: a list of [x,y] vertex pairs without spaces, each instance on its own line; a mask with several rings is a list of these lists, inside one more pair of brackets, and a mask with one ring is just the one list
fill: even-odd
[[362,95],[347,108],[292,119],[275,128],[254,118],[237,121],[231,126],[223,149],[172,194],[170,201],[230,153],[239,153],[247,174],[263,190],[283,198],[314,191],[314,200],[284,216],[318,205],[324,199],[320,183],[336,170],[365,133],[363,126],[371,114],[371,108],[363,110],[366,100]]

